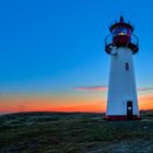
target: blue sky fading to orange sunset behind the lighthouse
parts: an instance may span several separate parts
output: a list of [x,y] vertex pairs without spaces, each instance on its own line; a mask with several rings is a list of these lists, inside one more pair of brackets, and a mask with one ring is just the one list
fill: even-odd
[[105,111],[108,27],[134,25],[140,109],[153,109],[152,0],[0,1],[0,114]]

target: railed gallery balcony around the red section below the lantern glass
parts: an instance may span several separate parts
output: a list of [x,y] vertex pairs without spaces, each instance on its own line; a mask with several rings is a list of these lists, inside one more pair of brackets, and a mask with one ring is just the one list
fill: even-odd
[[113,47],[127,47],[132,50],[132,54],[137,54],[139,50],[139,39],[136,35],[116,35],[109,34],[105,38],[105,51],[111,52]]

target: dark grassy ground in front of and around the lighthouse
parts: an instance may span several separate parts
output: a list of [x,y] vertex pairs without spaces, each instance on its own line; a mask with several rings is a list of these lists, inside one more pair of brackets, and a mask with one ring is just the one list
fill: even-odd
[[153,111],[140,121],[104,114],[22,113],[0,116],[0,153],[153,153]]

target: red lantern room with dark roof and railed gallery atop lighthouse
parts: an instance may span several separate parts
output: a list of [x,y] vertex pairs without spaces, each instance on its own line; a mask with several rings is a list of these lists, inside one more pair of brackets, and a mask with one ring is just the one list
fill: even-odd
[[110,54],[113,47],[128,47],[133,54],[139,50],[139,39],[133,35],[133,26],[123,21],[120,16],[119,22],[116,22],[109,27],[110,34],[105,38],[105,50]]

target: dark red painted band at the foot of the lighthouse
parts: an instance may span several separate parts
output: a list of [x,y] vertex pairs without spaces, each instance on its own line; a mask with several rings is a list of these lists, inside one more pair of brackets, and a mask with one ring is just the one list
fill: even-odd
[[106,120],[140,120],[139,115],[132,115],[131,117],[128,117],[126,115],[106,115]]

